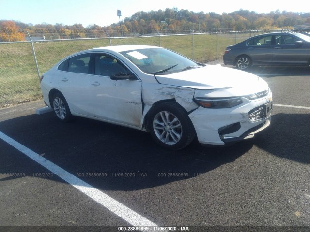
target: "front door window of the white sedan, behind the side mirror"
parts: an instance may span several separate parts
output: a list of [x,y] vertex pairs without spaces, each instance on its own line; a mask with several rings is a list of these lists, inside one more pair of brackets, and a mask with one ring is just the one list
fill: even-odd
[[111,76],[115,73],[129,74],[119,60],[105,54],[95,55],[95,75]]

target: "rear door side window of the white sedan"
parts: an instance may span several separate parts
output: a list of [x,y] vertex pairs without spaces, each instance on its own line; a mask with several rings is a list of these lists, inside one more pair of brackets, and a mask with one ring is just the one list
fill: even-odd
[[90,58],[90,53],[70,58],[68,64],[68,71],[72,73],[89,73]]

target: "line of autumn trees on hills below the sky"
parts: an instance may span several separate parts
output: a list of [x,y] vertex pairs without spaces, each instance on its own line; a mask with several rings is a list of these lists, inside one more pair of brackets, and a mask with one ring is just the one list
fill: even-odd
[[217,14],[166,8],[165,10],[140,11],[122,20],[121,25],[114,23],[100,27],[97,24],[84,27],[82,24],[55,25],[41,23],[33,25],[14,20],[0,20],[0,41],[23,41],[27,31],[31,36],[45,39],[107,37],[113,34],[124,36],[176,30],[207,29],[293,29],[294,25],[310,23],[310,13],[271,11],[258,14],[240,9],[232,13]]

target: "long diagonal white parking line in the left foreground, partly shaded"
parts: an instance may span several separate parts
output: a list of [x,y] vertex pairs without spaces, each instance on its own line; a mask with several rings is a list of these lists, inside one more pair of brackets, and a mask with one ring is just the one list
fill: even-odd
[[0,131],[0,138],[4,140],[6,143],[15,147],[17,150],[24,153],[26,156],[28,156],[32,160],[36,161],[37,163],[41,164],[43,167],[47,168],[49,171],[58,175],[64,181],[68,182],[70,185],[77,188],[78,190],[80,190],[81,192],[83,192],[84,194],[92,198],[97,203],[100,203],[101,205],[109,209],[111,212],[116,214],[117,216],[123,218],[125,221],[127,221],[131,225],[133,226],[157,226],[155,223],[149,221],[145,217],[142,217],[140,214],[131,210],[124,204],[114,200],[113,198],[109,197],[107,194],[87,184],[86,182],[82,181],[75,175],[68,173],[61,167],[43,158],[42,156],[30,150],[26,146],[21,145],[20,143],[16,142],[14,139],[10,138],[6,134],[2,133],[1,131]]

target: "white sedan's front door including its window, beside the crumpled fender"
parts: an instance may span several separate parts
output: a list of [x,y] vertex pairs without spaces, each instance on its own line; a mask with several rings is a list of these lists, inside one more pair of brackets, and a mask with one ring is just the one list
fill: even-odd
[[92,105],[94,114],[117,123],[140,127],[142,117],[141,85],[135,80],[111,80],[115,73],[133,75],[118,59],[98,53],[94,58],[95,75],[92,77]]

